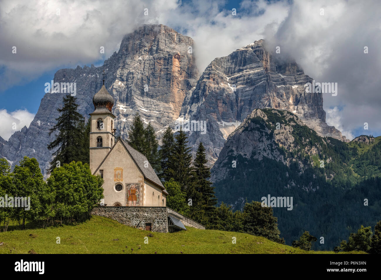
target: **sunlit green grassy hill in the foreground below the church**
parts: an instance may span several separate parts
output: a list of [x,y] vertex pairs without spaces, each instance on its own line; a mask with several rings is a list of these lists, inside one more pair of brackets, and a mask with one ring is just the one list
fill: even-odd
[[[166,234],[147,232],[112,219],[92,216],[89,221],[75,226],[1,232],[0,253],[26,254],[33,250],[37,254],[334,254],[332,251],[307,252],[249,234],[187,229]],[[144,237],[150,234],[145,244]],[[61,244],[56,243],[56,237],[61,238]],[[236,237],[236,244],[232,244],[232,237]]]

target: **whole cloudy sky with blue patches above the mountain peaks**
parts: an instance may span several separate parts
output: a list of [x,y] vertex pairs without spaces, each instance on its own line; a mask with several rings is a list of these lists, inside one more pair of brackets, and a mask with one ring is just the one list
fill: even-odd
[[[338,96],[323,98],[326,110],[344,107],[336,112],[340,127],[350,134],[365,119],[381,131],[378,2],[244,0],[234,6],[236,16],[230,5],[230,10],[221,8],[225,4],[224,0],[2,1],[0,49],[5,51],[0,52],[0,69],[4,67],[5,73],[0,91],[51,69],[107,59],[136,27],[165,24],[195,40],[193,53],[200,74],[214,58],[264,38],[295,58],[317,82],[338,83]],[[324,15],[320,15],[322,8]],[[16,54],[11,52],[13,46]],[[99,52],[101,46],[105,54]],[[368,54],[363,53],[364,46]],[[327,110],[328,119],[337,119],[330,114],[334,112]]]

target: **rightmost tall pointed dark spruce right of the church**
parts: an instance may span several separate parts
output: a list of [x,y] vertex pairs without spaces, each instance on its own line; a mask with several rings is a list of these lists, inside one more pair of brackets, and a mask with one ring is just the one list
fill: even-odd
[[215,197],[213,183],[209,181],[210,167],[207,166],[205,156],[205,147],[200,142],[197,149],[196,158],[194,161],[192,181],[194,188],[191,198],[194,200],[194,207],[191,208],[194,215],[193,218],[200,221],[203,225],[209,227],[216,224],[216,209],[217,199]]

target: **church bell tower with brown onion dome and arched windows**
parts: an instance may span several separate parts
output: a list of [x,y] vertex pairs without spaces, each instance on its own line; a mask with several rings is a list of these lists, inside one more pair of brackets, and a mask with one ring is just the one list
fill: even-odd
[[114,98],[104,86],[93,97],[94,112],[90,114],[90,170],[98,168],[115,143],[114,120],[112,106]]

